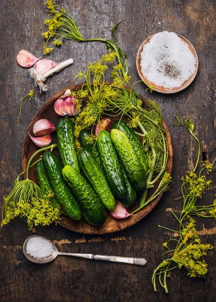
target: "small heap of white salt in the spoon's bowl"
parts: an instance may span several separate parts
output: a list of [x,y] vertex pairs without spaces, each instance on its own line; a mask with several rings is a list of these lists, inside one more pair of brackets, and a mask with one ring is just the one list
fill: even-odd
[[45,259],[54,252],[53,245],[41,237],[32,237],[27,242],[27,253],[34,258]]

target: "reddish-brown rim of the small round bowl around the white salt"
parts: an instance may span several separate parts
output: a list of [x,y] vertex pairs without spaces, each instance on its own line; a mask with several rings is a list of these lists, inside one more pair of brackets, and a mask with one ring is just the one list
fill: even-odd
[[141,52],[142,52],[142,49],[143,49],[143,46],[145,44],[147,44],[151,38],[154,36],[155,34],[151,35],[150,37],[148,37],[142,44],[141,46],[139,47],[139,50],[137,52],[137,56],[136,56],[136,68],[137,68],[137,71],[139,73],[139,76],[141,78],[141,80],[149,87],[149,86],[153,86],[155,87],[154,91],[157,91],[157,92],[160,92],[160,93],[166,93],[166,94],[169,94],[169,93],[176,93],[176,92],[179,92],[183,89],[185,89],[187,86],[189,86],[195,76],[196,76],[196,73],[197,73],[197,70],[198,70],[198,57],[197,57],[197,53],[195,51],[195,48],[193,47],[193,45],[186,39],[184,38],[183,36],[178,35],[178,37],[189,47],[189,49],[191,50],[192,54],[194,55],[195,59],[196,59],[196,69],[195,69],[195,72],[193,74],[191,74],[190,78],[187,79],[186,81],[184,81],[184,83],[180,86],[180,87],[173,87],[172,89],[167,89],[163,86],[157,86],[155,85],[153,82],[149,82],[143,75],[142,73],[142,70],[141,70]]

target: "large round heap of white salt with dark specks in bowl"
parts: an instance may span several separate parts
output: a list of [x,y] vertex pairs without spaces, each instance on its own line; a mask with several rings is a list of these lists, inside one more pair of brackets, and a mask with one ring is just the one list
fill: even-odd
[[196,59],[173,32],[155,34],[141,51],[141,70],[144,77],[156,86],[178,88],[196,69]]

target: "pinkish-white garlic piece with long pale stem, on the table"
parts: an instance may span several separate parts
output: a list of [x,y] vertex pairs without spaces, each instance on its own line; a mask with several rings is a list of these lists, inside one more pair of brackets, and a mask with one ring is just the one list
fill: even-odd
[[42,91],[45,92],[48,90],[48,85],[45,85],[44,82],[50,75],[52,75],[54,72],[59,72],[61,69],[72,64],[74,61],[73,59],[68,59],[57,64],[52,60],[42,59],[39,62],[38,64],[35,64],[33,68],[31,68],[30,76],[35,80],[35,85],[36,87],[38,86],[40,88],[41,93]]

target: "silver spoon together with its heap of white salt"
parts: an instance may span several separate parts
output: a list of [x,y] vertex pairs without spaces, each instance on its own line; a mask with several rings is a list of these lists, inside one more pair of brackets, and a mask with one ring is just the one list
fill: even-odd
[[23,252],[27,259],[35,263],[48,263],[53,261],[57,256],[72,256],[95,260],[104,260],[112,262],[122,262],[128,264],[136,264],[144,266],[146,260],[144,258],[129,258],[119,256],[106,256],[106,255],[95,255],[95,254],[80,254],[80,253],[62,253],[58,252],[55,244],[42,236],[33,235],[26,239]]

